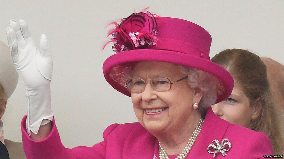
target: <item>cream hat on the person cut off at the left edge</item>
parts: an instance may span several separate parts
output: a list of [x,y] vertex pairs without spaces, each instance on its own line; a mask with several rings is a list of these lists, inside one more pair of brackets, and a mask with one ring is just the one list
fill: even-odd
[[18,77],[8,45],[0,41],[0,85],[7,98],[13,94],[18,84]]

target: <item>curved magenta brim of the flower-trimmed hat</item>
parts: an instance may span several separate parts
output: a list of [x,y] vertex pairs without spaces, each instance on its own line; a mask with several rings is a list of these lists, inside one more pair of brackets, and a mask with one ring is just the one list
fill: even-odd
[[122,85],[116,83],[110,76],[111,69],[119,64],[133,63],[139,61],[160,61],[184,65],[187,67],[197,68],[216,76],[224,85],[225,89],[222,94],[217,97],[215,103],[219,103],[230,96],[234,87],[234,80],[231,74],[220,65],[210,60],[168,50],[155,49],[137,49],[123,51],[110,56],[103,64],[103,73],[106,81],[117,91],[131,97],[131,93]]

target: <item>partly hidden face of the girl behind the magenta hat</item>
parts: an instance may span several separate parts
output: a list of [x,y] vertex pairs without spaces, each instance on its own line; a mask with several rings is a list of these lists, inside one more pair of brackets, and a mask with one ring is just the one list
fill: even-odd
[[235,83],[232,94],[226,100],[211,107],[220,118],[244,127],[249,127],[254,112],[238,83]]

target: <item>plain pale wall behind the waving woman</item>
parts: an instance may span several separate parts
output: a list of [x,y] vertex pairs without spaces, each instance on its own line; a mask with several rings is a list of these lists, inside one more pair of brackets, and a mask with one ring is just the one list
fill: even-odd
[[[114,54],[103,43],[110,21],[151,6],[150,12],[187,19],[212,35],[210,57],[227,48],[242,48],[284,64],[284,1],[18,1],[0,2],[0,40],[7,43],[10,19],[23,18],[38,44],[48,38],[54,58],[52,111],[66,147],[91,146],[112,123],[136,122],[131,99],[109,86],[104,60]],[[3,116],[5,136],[21,141],[26,113],[25,87],[19,80]]]

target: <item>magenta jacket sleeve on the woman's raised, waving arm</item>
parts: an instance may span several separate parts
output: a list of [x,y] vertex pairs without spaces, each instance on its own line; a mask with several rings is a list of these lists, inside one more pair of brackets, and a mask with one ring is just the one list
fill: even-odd
[[105,146],[106,138],[113,129],[115,129],[119,124],[113,124],[107,127],[103,133],[104,141],[92,146],[79,146],[72,149],[65,148],[62,145],[58,130],[55,125],[55,120],[53,118],[53,127],[47,138],[41,141],[32,140],[28,133],[26,132],[26,116],[22,119],[22,139],[24,151],[27,159],[38,159],[38,158],[62,158],[62,159],[75,159],[75,158],[105,158]]

